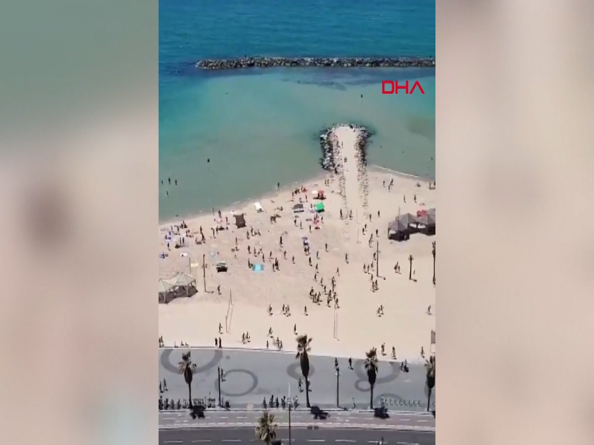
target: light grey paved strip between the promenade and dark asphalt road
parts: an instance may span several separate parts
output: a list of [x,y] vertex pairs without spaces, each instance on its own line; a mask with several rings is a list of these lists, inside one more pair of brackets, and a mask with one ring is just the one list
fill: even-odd
[[[288,426],[289,413],[283,409],[271,409],[270,414],[279,426]],[[318,428],[391,428],[399,430],[435,431],[435,418],[431,414],[418,412],[391,412],[387,418],[378,418],[373,412],[364,411],[326,411],[326,418],[315,418],[307,410],[291,412],[291,425],[294,427]],[[192,419],[189,411],[159,413],[159,428],[238,428],[254,427],[261,410],[215,411],[206,410],[204,418]],[[322,416],[324,417],[324,416]]]

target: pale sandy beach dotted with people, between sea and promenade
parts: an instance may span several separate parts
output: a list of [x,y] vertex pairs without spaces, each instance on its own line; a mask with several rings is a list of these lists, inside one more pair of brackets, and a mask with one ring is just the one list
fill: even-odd
[[[435,190],[415,177],[361,167],[355,128],[339,126],[333,138],[340,147],[340,158],[335,160],[338,174],[323,172],[302,184],[307,191],[294,193],[295,186],[280,184],[258,201],[220,209],[220,217],[219,209],[214,209],[184,220],[187,228],[175,227],[181,220],[161,225],[159,253],[168,256],[159,258],[160,278],[188,272],[197,279],[198,290],[192,297],[159,304],[159,333],[165,345],[185,342],[191,347],[214,347],[220,338],[223,348],[266,348],[268,341],[268,347],[276,349],[273,339],[278,337],[284,350],[294,350],[296,328],[297,333],[313,338],[314,354],[361,358],[372,347],[381,352],[384,343],[385,358],[390,357],[392,347],[397,360],[422,360],[421,347],[428,357],[436,313],[431,254],[435,236],[419,233],[407,241],[391,241],[387,225],[399,212],[416,214],[434,207]],[[393,186],[388,187],[391,181]],[[324,190],[326,199],[314,199],[312,190]],[[255,202],[260,202],[263,211],[257,212]],[[305,211],[294,213],[293,205],[298,202]],[[319,202],[325,210],[318,214],[311,206]],[[237,228],[232,213],[243,213],[247,227]],[[274,215],[278,216],[272,221]],[[315,215],[320,218],[317,224]],[[214,230],[217,226],[223,230]],[[202,239],[200,228],[204,243],[197,244],[195,240]],[[176,249],[181,237],[185,245]],[[304,252],[303,237],[308,238],[309,255]],[[414,258],[413,280],[409,280],[409,255]],[[228,271],[217,273],[220,260],[228,263]],[[264,270],[252,270],[248,261],[263,264]],[[273,270],[275,261],[277,271]],[[373,267],[364,272],[364,265],[371,263]],[[394,271],[396,263],[399,274]],[[372,290],[371,276],[377,280],[377,291]],[[337,305],[334,298],[327,300],[333,278]],[[312,289],[321,295],[319,304],[312,302]],[[269,305],[272,314],[268,314]],[[290,307],[290,315],[283,314],[283,305]],[[383,316],[378,316],[381,305]],[[426,313],[428,306],[431,314]],[[267,335],[270,328],[273,338]],[[247,332],[250,341],[244,344],[242,333]]]

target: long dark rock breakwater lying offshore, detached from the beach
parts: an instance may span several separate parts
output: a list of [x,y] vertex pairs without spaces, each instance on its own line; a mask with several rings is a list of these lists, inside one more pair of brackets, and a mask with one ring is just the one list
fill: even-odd
[[241,57],[231,59],[205,59],[196,62],[201,69],[240,69],[274,68],[276,66],[317,66],[317,67],[434,67],[435,58],[390,58],[390,57]]

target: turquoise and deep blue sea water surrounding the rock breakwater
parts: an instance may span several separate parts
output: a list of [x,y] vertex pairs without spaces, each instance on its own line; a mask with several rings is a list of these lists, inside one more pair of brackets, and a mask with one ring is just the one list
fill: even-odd
[[[160,2],[160,220],[320,173],[318,135],[337,122],[374,132],[370,163],[434,177],[434,69],[194,68],[198,59],[243,55],[433,55],[434,1],[221,5]],[[381,81],[396,79],[419,80],[425,94],[381,94]]]

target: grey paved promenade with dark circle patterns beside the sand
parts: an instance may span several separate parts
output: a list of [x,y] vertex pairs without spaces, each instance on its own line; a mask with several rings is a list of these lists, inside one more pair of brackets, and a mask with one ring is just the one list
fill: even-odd
[[[177,364],[187,348],[159,350],[159,379],[166,379],[168,391],[159,394],[163,399],[188,398],[188,386],[178,374]],[[222,398],[229,400],[232,408],[262,408],[263,399],[271,395],[279,400],[287,395],[297,395],[305,406],[305,393],[298,391],[301,377],[299,361],[294,353],[279,351],[244,351],[226,349],[192,349],[192,361],[197,364],[197,374],[192,382],[192,398],[218,399],[217,367],[225,371],[221,384]],[[336,373],[334,357],[311,355],[309,358],[311,405],[320,408],[336,407]],[[348,369],[345,358],[339,358],[339,403],[345,408],[368,408],[369,383],[363,360],[353,360],[353,370]],[[386,399],[390,410],[426,411],[427,389],[425,369],[421,364],[409,364],[409,372],[400,371],[400,363],[381,361],[374,388],[374,406],[380,398]],[[155,382],[158,386],[158,382]],[[305,382],[303,382],[305,387]],[[435,388],[431,395],[431,408],[435,409]]]

